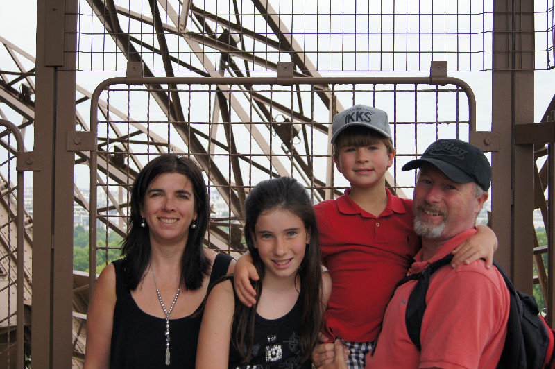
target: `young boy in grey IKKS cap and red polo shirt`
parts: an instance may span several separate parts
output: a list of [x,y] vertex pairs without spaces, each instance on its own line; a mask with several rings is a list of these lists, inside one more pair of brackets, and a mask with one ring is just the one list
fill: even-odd
[[[407,274],[420,240],[413,231],[411,200],[393,196],[385,187],[395,156],[386,112],[355,105],[336,114],[331,141],[336,167],[351,187],[343,196],[314,206],[322,262],[332,277],[325,335],[328,340],[341,338],[348,347],[350,368],[364,368],[395,284]],[[454,263],[491,259],[497,240],[486,229]],[[236,290],[242,302],[252,304],[244,259],[236,266]],[[252,270],[248,276],[257,278]],[[333,350],[333,344],[319,345],[314,363],[331,361]]]

